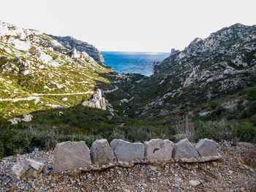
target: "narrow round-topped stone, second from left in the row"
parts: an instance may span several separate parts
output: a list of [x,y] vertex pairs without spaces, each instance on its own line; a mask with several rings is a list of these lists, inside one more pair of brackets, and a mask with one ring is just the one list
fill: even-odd
[[91,146],[91,160],[94,164],[113,163],[114,153],[106,139],[97,139]]

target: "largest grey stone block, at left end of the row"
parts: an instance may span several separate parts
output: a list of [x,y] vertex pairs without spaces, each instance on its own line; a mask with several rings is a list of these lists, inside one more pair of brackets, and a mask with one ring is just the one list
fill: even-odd
[[61,142],[54,149],[53,173],[91,165],[90,150],[85,142]]

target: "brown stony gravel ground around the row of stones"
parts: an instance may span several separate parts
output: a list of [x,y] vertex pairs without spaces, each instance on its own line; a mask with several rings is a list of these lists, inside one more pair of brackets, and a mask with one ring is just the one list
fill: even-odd
[[[14,155],[0,159],[0,191],[256,191],[256,144],[222,142],[218,147],[222,159],[211,163],[135,164],[61,174],[47,172],[53,151]],[[38,178],[12,183],[7,172],[25,157],[47,164],[48,169]]]

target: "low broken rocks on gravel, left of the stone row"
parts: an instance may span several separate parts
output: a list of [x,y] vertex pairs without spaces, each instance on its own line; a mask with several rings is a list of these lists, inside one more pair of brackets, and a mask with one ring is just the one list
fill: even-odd
[[25,158],[24,161],[19,161],[12,166],[9,175],[12,177],[13,182],[17,182],[23,177],[39,177],[39,174],[44,168],[45,164]]

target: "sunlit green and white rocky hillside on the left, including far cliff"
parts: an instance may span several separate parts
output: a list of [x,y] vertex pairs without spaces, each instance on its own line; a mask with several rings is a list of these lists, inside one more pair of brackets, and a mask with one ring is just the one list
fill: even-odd
[[78,104],[94,93],[97,82],[108,82],[99,74],[110,69],[97,62],[102,58],[95,47],[72,37],[54,38],[59,42],[40,31],[0,22],[3,118]]

